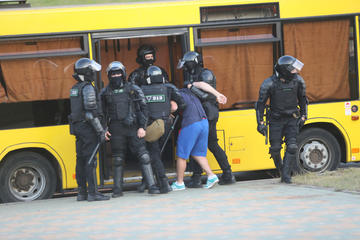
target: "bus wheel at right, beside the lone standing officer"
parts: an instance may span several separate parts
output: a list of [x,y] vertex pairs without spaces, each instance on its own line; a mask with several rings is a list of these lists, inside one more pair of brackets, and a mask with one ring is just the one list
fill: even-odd
[[298,173],[335,170],[341,158],[340,145],[336,138],[321,128],[309,128],[300,132],[299,153],[295,171]]

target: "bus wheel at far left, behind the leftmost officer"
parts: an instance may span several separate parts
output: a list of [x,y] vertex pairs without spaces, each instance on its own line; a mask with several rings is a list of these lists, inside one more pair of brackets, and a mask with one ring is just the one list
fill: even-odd
[[38,153],[10,155],[0,169],[0,198],[4,202],[50,198],[55,189],[54,168]]

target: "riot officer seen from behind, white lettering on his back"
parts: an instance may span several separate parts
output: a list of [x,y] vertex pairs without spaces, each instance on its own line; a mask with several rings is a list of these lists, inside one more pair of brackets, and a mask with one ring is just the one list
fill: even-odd
[[[164,121],[165,128],[169,127],[169,123],[171,123],[170,101],[175,101],[179,110],[182,110],[185,107],[185,103],[178,89],[173,84],[165,82],[163,72],[157,66],[150,66],[147,69],[146,85],[142,85],[141,89],[144,92],[149,107],[149,125],[154,121],[162,120]],[[161,193],[171,191],[160,154],[162,145],[166,144],[164,139],[165,135],[158,140],[147,142],[146,144],[147,149],[150,152],[152,166],[155,170]]]

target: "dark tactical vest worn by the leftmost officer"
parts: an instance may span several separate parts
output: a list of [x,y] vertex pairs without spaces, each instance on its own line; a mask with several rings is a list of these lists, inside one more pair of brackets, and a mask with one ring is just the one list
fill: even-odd
[[[73,123],[85,121],[85,108],[83,88],[86,85],[91,85],[89,82],[79,82],[70,89],[70,106],[71,106],[71,121]],[[93,116],[98,117],[102,114],[100,98],[96,94],[96,110],[93,111]]]

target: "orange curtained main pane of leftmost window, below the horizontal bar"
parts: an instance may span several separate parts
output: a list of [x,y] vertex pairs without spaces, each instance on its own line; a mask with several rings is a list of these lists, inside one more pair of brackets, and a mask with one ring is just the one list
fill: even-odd
[[73,66],[80,57],[1,60],[8,102],[69,98],[69,89],[75,83]]

